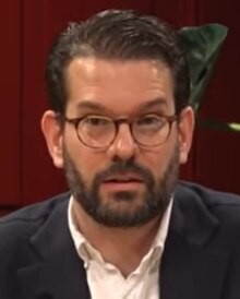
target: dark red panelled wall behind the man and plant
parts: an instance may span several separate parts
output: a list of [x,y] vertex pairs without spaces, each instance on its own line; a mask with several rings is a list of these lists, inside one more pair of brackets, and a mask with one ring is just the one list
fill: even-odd
[[[65,189],[53,168],[39,121],[47,108],[44,83],[46,53],[56,34],[70,21],[109,8],[154,13],[177,26],[218,22],[229,36],[207,91],[202,118],[240,122],[240,3],[233,0],[15,0],[0,11],[2,113],[0,146],[0,206],[17,207]],[[240,193],[240,134],[197,130],[190,163],[182,177]]]

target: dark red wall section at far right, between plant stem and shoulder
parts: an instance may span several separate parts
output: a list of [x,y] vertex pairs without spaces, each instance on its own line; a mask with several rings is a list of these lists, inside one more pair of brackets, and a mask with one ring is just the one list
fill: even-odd
[[197,134],[196,180],[205,186],[240,194],[240,135],[202,130]]

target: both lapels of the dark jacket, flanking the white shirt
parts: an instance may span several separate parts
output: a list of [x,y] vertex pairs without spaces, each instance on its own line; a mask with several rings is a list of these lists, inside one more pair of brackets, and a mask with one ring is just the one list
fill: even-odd
[[[89,299],[83,262],[61,202],[26,246],[19,271],[24,299]],[[228,254],[211,246],[218,220],[202,200],[178,188],[160,267],[161,299],[219,299]]]

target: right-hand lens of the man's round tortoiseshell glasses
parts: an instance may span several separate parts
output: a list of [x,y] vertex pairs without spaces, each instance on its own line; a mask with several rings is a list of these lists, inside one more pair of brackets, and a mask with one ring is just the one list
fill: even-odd
[[146,146],[165,143],[170,132],[170,123],[165,117],[148,115],[133,122],[132,133],[136,142]]

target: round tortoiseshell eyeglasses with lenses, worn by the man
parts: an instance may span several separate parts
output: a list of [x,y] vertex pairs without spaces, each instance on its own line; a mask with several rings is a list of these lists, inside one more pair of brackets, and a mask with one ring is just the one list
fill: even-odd
[[69,119],[60,113],[57,119],[75,127],[79,140],[92,148],[105,148],[113,143],[121,123],[128,123],[133,140],[141,146],[161,145],[169,137],[172,123],[178,116],[144,115],[132,121],[129,119],[111,119],[109,117],[89,115]]

